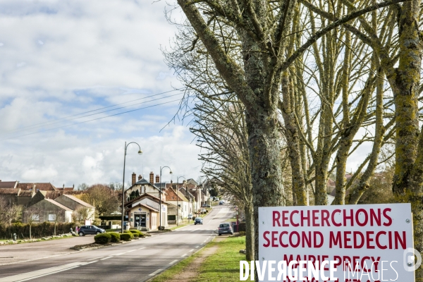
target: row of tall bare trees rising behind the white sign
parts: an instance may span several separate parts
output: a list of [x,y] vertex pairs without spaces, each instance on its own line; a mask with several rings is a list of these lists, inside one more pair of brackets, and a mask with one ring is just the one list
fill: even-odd
[[[423,251],[420,1],[178,6],[186,20],[164,54],[186,85],[181,109],[193,117],[203,172],[252,205],[257,223],[258,207],[327,204],[330,174],[333,203],[357,204],[376,168],[394,157],[395,199],[412,203],[415,247]],[[381,154],[387,145],[393,154]],[[364,147],[369,153],[347,180],[348,161]],[[423,281],[422,271],[416,278]]]

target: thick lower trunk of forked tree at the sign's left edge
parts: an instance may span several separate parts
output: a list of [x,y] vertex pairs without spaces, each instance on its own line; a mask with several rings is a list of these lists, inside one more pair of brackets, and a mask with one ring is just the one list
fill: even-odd
[[255,259],[259,259],[259,207],[283,205],[281,146],[276,111],[246,114],[254,205]]

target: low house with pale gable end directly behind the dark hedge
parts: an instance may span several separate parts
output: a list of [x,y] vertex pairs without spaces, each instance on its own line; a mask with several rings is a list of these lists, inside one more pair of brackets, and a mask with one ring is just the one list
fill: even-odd
[[44,199],[23,211],[23,222],[72,222],[72,209],[51,199]]

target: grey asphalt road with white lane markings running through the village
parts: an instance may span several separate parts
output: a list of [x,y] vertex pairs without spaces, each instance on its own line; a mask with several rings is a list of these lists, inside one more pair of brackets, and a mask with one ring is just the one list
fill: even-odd
[[[227,206],[216,206],[204,218],[203,225],[190,225],[177,231],[98,250],[37,257],[33,260],[27,257],[26,261],[1,265],[0,282],[147,281],[200,250],[216,235],[219,223],[232,214]],[[21,252],[30,254],[30,245],[37,248],[37,243],[13,247],[16,247],[18,254],[23,255],[19,252],[19,247],[25,246],[21,247]]]

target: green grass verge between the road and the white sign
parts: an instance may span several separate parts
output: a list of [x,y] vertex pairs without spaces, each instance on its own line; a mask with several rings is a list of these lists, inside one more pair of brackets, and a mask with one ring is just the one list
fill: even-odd
[[245,237],[229,237],[220,242],[207,244],[200,252],[171,266],[166,271],[154,277],[149,282],[173,281],[173,277],[184,271],[204,250],[217,245],[219,249],[207,257],[198,271],[198,276],[192,281],[238,281],[240,278],[240,260],[245,260],[245,255],[240,250],[245,249]]

